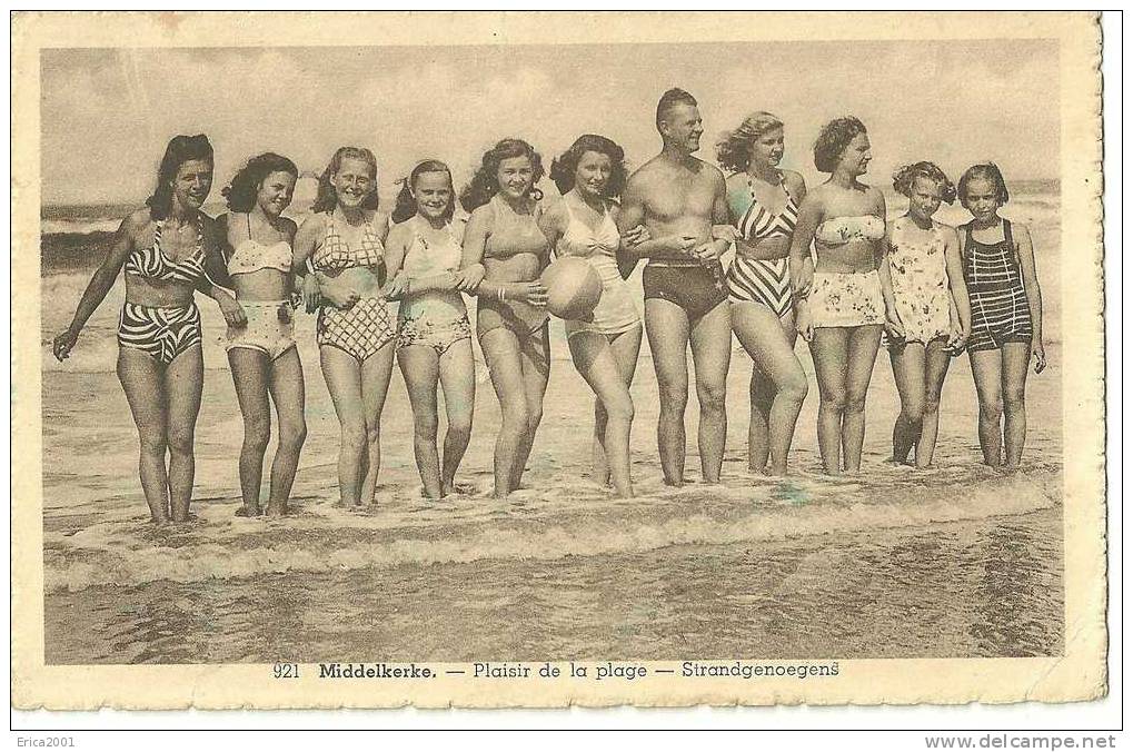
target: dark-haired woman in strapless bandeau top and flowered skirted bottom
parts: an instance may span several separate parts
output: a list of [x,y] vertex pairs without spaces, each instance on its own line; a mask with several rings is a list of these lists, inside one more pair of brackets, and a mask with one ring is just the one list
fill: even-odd
[[888,267],[878,268],[885,198],[858,180],[869,161],[861,120],[826,124],[815,142],[815,167],[830,179],[802,202],[791,239],[799,333],[810,344],[818,377],[818,449],[835,475],[861,470],[866,392],[893,297]]

